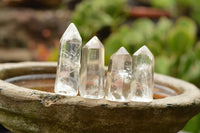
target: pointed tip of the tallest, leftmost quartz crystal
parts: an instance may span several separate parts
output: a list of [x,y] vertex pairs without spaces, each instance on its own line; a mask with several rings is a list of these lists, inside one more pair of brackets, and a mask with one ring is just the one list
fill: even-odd
[[72,40],[72,39],[77,39],[80,40],[80,42],[82,41],[82,38],[80,36],[80,33],[78,32],[78,29],[76,28],[74,23],[71,23],[67,29],[65,30],[65,32],[63,33],[60,41],[66,41],[66,40]]

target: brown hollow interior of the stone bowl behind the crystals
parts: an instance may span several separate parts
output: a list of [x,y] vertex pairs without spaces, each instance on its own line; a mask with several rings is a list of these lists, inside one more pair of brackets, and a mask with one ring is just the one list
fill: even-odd
[[[30,89],[54,93],[55,74],[30,74],[5,79],[5,81]],[[154,85],[154,99],[176,96],[178,93],[166,86]]]

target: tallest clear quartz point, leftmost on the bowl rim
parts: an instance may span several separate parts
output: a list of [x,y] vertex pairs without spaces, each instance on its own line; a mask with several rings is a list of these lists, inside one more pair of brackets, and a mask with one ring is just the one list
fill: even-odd
[[78,94],[82,39],[71,23],[60,39],[55,93],[76,96]]

